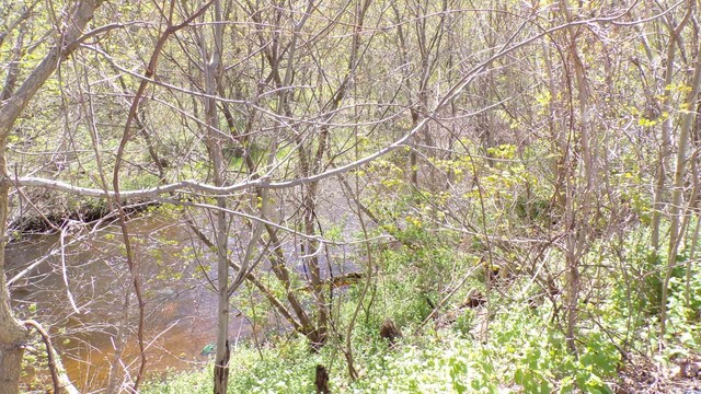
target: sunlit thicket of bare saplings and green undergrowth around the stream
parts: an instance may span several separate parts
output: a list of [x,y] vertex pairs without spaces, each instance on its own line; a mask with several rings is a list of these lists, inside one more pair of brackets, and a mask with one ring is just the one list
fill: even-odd
[[[5,40],[18,49],[2,62],[19,74],[8,72],[3,97],[26,94],[12,85],[37,63],[61,63],[21,100],[30,106],[0,107],[13,113],[0,124],[5,175],[26,186],[21,198],[11,188],[13,208],[36,201],[44,216],[18,232],[116,211],[116,199],[88,207],[80,193],[50,200],[54,179],[105,190],[113,176],[122,190],[262,174],[284,182],[404,141],[337,178],[278,189],[287,200],[257,186],[227,197],[229,217],[260,219],[266,194],[280,202],[269,209],[291,229],[258,234],[278,252],[280,234],[354,240],[344,259],[356,274],[304,291],[302,275],[275,276],[265,264],[294,271],[296,262],[262,256],[253,274],[267,293],[246,280],[231,299],[261,329],[233,347],[230,392],[669,392],[698,381],[697,2],[307,2],[309,19],[299,2],[227,2],[230,19],[206,9],[219,1],[202,18],[187,2],[104,3],[95,26],[116,30],[93,31],[66,63],[39,61],[64,40],[59,26],[74,26],[46,22],[61,14],[51,2],[22,12],[28,33]],[[156,79],[141,78],[149,56]],[[45,181],[32,188],[28,175]],[[188,187],[158,194],[180,204],[158,209],[198,205],[196,215],[214,216],[223,202]],[[324,211],[338,195],[348,211]],[[72,205],[91,213],[47,215]],[[229,235],[245,242],[254,221]],[[208,240],[223,227],[193,225],[210,251],[226,244]],[[330,318],[302,322],[322,315],[312,293],[324,286]],[[299,305],[308,310],[290,312]],[[265,323],[280,310],[288,325],[324,326],[273,329]],[[323,346],[310,344],[321,329]],[[212,373],[173,373],[141,391],[209,393]]]

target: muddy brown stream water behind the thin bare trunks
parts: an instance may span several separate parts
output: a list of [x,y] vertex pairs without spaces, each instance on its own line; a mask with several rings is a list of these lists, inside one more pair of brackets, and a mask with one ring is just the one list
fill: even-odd
[[[146,299],[146,344],[151,378],[166,370],[202,367],[203,349],[216,337],[216,280],[214,258],[179,223],[162,215],[129,222],[136,259],[141,265]],[[46,325],[72,381],[84,392],[104,387],[118,341],[117,326],[128,324],[122,357],[123,371],[138,367],[136,299],[125,292],[130,277],[124,258],[122,233],[116,225],[92,231],[72,229],[59,235],[34,236],[8,245],[9,277],[32,262],[65,246],[45,259],[24,280],[11,287],[15,309]],[[206,275],[205,275],[206,273]],[[133,293],[133,292],[131,292]],[[250,328],[232,313],[230,340]],[[28,366],[26,389],[41,386],[44,364]]]

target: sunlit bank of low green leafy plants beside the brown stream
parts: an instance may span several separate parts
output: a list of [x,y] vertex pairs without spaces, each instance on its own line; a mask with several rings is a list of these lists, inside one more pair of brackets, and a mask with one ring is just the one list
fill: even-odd
[[[629,236],[624,248],[628,262],[637,262],[633,268],[645,269],[650,256],[635,248],[639,236],[644,232]],[[388,259],[404,252],[384,252],[382,263],[391,267]],[[609,259],[614,256],[602,253],[601,264],[612,264]],[[696,268],[689,288],[681,273],[673,276],[671,324],[664,346],[654,329],[656,306],[651,294],[611,269],[607,286],[590,289],[579,305],[575,356],[567,350],[562,329],[562,294],[547,293],[528,276],[495,280],[489,297],[469,302],[476,293],[487,293],[482,274],[475,271],[459,296],[422,325],[429,310],[422,301],[425,294],[404,292],[406,287],[400,285],[407,278],[387,269],[375,289],[375,302],[366,301],[367,309],[353,328],[357,379],[349,378],[345,343],[331,340],[320,352],[311,352],[304,338],[290,334],[267,338],[260,348],[234,348],[230,392],[313,393],[318,364],[330,371],[333,393],[683,392],[699,384],[678,368],[701,350],[701,273]],[[688,304],[687,290],[691,291]],[[359,288],[350,289],[343,294],[345,304],[352,305],[359,294]],[[338,312],[338,321],[348,322],[353,310]],[[384,317],[401,322],[403,337],[393,345],[380,337]],[[143,393],[210,393],[211,373],[211,369],[174,373],[151,381]]]

